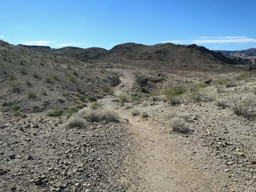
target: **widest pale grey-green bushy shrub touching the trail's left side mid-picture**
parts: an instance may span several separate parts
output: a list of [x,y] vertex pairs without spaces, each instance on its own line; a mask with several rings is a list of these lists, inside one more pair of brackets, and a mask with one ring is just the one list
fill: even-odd
[[84,118],[89,122],[117,122],[118,115],[112,109],[82,109],[77,114],[78,117]]

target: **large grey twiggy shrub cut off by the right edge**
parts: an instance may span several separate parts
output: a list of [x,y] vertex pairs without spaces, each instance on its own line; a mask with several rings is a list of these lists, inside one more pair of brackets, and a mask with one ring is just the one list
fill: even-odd
[[228,98],[229,108],[238,116],[246,117],[247,119],[256,115],[256,102],[254,97],[230,97]]

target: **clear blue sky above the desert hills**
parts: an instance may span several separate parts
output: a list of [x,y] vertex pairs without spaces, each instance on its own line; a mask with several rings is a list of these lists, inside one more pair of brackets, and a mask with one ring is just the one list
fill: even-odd
[[103,47],[173,42],[256,48],[254,0],[0,0],[0,39],[11,44]]

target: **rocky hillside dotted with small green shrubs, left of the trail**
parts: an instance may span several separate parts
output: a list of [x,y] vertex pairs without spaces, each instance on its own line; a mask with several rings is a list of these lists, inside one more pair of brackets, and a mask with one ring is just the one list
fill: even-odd
[[6,42],[0,44],[0,62],[0,108],[4,111],[82,107],[108,94],[101,86],[119,82],[114,73],[89,69],[82,61]]

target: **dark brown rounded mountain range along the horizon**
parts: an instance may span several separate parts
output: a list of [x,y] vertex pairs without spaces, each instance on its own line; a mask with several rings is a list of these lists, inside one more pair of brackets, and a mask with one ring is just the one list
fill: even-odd
[[[235,69],[237,65],[248,65],[252,61],[239,57],[230,57],[220,52],[197,45],[156,44],[147,46],[126,43],[107,50],[103,48],[26,46],[35,51],[54,54],[87,63],[117,63],[146,69],[220,71]],[[230,71],[230,70],[229,70]]]

